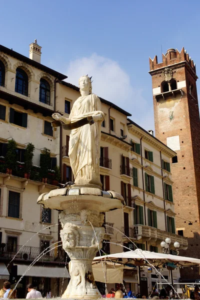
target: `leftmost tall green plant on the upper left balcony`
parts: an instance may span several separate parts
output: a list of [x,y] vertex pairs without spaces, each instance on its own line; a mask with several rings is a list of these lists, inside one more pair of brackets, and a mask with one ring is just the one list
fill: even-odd
[[12,170],[16,169],[16,142],[13,138],[8,140],[5,167],[7,174],[11,174]]

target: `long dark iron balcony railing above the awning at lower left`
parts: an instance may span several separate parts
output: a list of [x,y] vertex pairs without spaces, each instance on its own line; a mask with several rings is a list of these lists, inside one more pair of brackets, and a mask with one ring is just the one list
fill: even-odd
[[[55,245],[53,245],[55,246]],[[48,251],[50,248],[46,249]],[[39,260],[41,261],[63,261],[62,252],[58,251],[59,248],[55,248],[42,255]],[[9,243],[0,244],[0,257],[3,258],[21,258],[25,260],[35,259],[44,248],[42,247],[31,247],[31,246],[21,246]],[[18,253],[17,253],[18,252]],[[59,252],[59,254],[58,254]],[[16,254],[17,253],[17,254]],[[61,254],[62,253],[62,254]]]

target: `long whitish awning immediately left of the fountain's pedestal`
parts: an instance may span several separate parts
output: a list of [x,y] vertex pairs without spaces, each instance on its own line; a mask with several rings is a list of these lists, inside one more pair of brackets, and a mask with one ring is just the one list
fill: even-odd
[[[27,264],[16,264],[17,275],[23,275],[28,268]],[[24,276],[32,277],[50,277],[50,278],[70,278],[70,275],[65,267],[58,266],[31,266]]]

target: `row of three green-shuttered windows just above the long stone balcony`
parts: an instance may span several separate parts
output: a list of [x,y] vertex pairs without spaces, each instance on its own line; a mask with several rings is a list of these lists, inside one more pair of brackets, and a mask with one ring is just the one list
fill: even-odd
[[[143,206],[135,205],[135,209],[133,210],[134,214],[134,225],[144,224],[144,217],[143,217]],[[155,210],[147,209],[147,220],[148,226],[157,228],[157,212]],[[166,224],[167,224],[167,231],[171,233],[175,233],[175,223],[174,218],[170,216],[166,216]]]

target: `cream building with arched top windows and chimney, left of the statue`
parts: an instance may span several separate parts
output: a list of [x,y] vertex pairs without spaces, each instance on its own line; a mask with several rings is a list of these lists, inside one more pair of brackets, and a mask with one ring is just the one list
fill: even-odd
[[[39,258],[20,281],[18,297],[22,298],[28,282],[43,295],[49,287],[57,295],[65,257],[56,243],[57,211],[42,208],[36,200],[40,193],[57,188],[53,179],[60,160],[59,132],[52,130],[51,114],[55,80],[66,76],[42,65],[39,49],[36,41],[30,44],[31,58],[27,58],[0,46],[0,261],[4,269],[9,263],[7,279],[14,284]],[[27,171],[30,143],[33,161]],[[49,246],[55,248],[48,251]],[[47,252],[40,257],[43,250]],[[61,270],[60,278],[52,266],[58,273]]]

